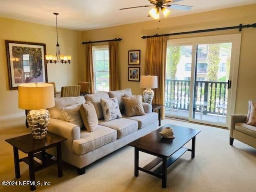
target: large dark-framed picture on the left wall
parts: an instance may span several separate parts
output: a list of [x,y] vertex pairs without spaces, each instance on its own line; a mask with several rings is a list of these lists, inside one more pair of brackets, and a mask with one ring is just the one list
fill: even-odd
[[10,90],[22,83],[47,82],[45,44],[9,40],[5,44]]

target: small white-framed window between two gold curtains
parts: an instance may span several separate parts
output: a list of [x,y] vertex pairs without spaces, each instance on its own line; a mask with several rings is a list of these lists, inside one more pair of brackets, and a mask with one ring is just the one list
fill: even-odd
[[109,91],[108,46],[92,47],[94,86],[96,91]]

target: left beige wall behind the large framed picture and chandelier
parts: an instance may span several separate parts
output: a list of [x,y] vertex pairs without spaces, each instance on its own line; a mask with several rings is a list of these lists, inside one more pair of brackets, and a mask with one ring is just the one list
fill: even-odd
[[[46,44],[46,53],[56,53],[56,27],[0,18],[0,118],[24,113],[18,109],[18,91],[9,90],[5,40]],[[58,28],[60,52],[72,55],[71,64],[47,64],[48,82],[61,86],[77,84],[82,32]]]

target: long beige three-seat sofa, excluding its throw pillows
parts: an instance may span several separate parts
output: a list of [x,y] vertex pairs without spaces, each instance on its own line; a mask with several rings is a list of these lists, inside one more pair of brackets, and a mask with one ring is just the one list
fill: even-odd
[[[85,97],[55,98],[55,106],[49,109],[50,125],[48,131],[67,138],[62,143],[62,160],[75,166],[78,174],[84,174],[85,168],[92,162],[122,148],[128,143],[156,130],[158,115],[152,112],[150,104],[142,103],[145,114],[127,117],[122,97],[132,96],[131,89],[96,93]],[[116,98],[122,118],[104,121],[101,99]],[[75,104],[84,104],[89,100],[96,111],[98,124],[93,132],[86,127],[67,122],[63,108]],[[56,149],[47,151],[56,156]]]

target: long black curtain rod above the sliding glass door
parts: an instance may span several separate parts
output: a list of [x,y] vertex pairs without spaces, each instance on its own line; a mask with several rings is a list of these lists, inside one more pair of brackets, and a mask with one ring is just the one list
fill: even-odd
[[210,31],[220,31],[220,30],[229,30],[229,29],[238,29],[239,31],[242,31],[242,28],[249,28],[249,27],[256,27],[256,23],[254,24],[248,24],[248,25],[238,25],[238,26],[232,26],[232,27],[222,27],[222,28],[213,28],[213,29],[203,29],[203,30],[196,30],[196,31],[187,31],[187,32],[178,32],[178,33],[169,33],[169,34],[155,34],[150,36],[142,36],[142,39],[146,38],[152,38],[152,37],[163,37],[163,36],[171,36],[171,35],[183,35],[183,34],[191,34],[191,33],[202,33],[202,32],[210,32]]

